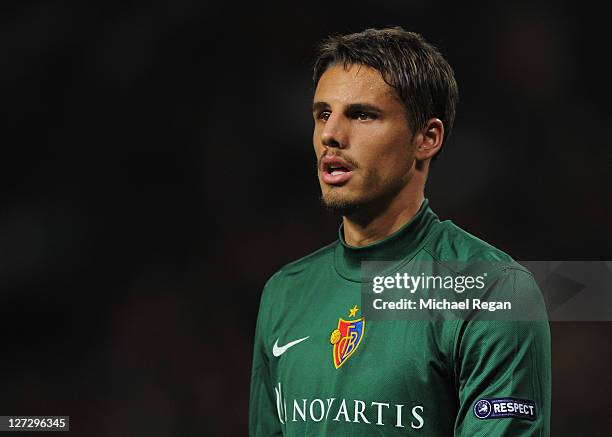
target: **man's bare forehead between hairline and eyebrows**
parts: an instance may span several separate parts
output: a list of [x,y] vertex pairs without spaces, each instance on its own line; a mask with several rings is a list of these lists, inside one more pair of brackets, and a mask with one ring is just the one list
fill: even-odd
[[343,64],[329,67],[321,75],[314,94],[315,102],[337,104],[350,103],[399,103],[395,90],[382,78],[378,70],[361,64]]

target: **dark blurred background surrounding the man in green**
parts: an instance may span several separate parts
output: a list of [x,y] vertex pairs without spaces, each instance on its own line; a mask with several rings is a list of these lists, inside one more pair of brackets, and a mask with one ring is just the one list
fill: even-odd
[[[3,3],[0,414],[246,435],[262,286],[339,224],[311,145],[329,33],[402,25],[454,67],[427,192],[442,219],[516,259],[611,259],[603,7]],[[612,433],[611,337],[552,324],[553,436]]]

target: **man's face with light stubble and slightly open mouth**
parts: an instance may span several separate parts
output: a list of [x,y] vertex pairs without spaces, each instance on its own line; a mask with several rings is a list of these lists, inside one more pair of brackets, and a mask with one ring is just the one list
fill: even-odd
[[404,106],[380,73],[333,65],[313,99],[313,143],[321,198],[351,215],[393,200],[414,172],[413,134]]

